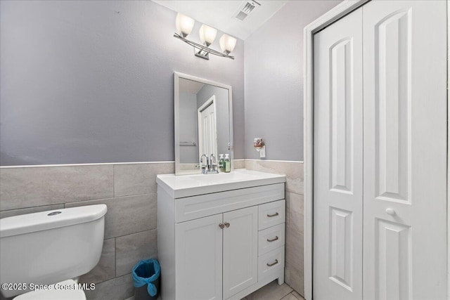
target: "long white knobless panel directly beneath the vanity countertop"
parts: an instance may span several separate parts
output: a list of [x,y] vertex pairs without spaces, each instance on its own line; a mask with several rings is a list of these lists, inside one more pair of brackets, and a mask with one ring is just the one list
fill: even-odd
[[284,183],[178,198],[175,200],[175,223],[221,214],[226,211],[251,207],[283,198]]

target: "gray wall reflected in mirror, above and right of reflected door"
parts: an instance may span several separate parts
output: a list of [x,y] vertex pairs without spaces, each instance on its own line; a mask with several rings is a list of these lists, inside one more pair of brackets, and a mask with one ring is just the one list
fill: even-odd
[[[197,93],[197,107],[200,107],[206,100],[216,96],[216,124],[217,124],[217,157],[219,154],[229,153],[228,143],[230,141],[229,124],[229,96],[228,90],[205,84]],[[236,155],[235,155],[236,156]]]

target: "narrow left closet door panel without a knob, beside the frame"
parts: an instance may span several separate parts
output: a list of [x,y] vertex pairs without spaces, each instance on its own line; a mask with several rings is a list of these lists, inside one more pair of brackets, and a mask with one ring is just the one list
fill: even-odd
[[314,35],[314,299],[362,298],[362,10]]

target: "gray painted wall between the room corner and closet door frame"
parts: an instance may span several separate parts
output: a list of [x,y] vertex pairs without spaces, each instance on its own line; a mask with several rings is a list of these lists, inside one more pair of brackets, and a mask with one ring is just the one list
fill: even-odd
[[245,158],[261,137],[266,159],[303,160],[303,28],[339,3],[289,1],[245,40]]

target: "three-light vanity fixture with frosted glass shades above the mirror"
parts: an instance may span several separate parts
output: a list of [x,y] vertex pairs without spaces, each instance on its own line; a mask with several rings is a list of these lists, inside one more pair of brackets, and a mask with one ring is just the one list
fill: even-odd
[[217,29],[213,27],[205,24],[200,27],[198,34],[203,45],[186,39],[186,37],[188,37],[188,35],[192,32],[194,22],[195,20],[193,18],[189,18],[187,15],[178,13],[175,20],[176,32],[174,33],[174,37],[176,37],[177,39],[181,39],[181,41],[184,41],[186,44],[193,46],[195,50],[195,56],[198,56],[200,58],[209,60],[211,53],[214,54],[214,56],[234,59],[234,56],[230,56],[229,54],[234,50],[234,47],[236,46],[236,39],[234,37],[230,37],[228,34],[223,34],[219,39],[219,45],[221,51],[223,52],[219,52],[210,48],[210,45],[214,42],[214,39],[216,39],[217,36]]

